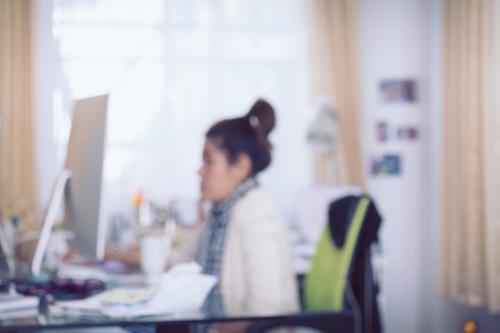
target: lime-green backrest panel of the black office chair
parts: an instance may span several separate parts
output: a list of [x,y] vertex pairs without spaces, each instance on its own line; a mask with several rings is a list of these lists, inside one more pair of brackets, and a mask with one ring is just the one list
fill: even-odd
[[342,248],[336,246],[327,223],[304,284],[304,306],[309,311],[342,311],[346,283],[370,199],[358,200]]

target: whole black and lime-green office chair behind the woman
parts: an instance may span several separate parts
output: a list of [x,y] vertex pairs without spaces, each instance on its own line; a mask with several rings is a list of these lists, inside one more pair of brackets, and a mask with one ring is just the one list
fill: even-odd
[[344,196],[330,204],[328,220],[306,276],[304,311],[259,321],[251,333],[282,326],[331,333],[381,331],[370,263],[370,245],[381,222],[374,203],[367,195]]

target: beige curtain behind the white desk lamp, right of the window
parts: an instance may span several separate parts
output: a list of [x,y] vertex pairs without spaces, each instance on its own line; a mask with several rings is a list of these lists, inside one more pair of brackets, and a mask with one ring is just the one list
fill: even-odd
[[[339,118],[336,182],[364,186],[354,0],[308,0],[312,93],[334,101]],[[324,157],[318,159],[324,167]],[[326,172],[318,168],[317,172]],[[321,176],[319,178],[321,179]]]

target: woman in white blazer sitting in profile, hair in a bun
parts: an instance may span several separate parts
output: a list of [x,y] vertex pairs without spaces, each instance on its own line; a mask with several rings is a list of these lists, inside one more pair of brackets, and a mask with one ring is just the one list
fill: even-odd
[[219,278],[204,303],[212,313],[279,314],[299,309],[287,228],[257,175],[271,162],[274,111],[258,100],[241,118],[213,124],[199,170],[212,202],[197,261]]

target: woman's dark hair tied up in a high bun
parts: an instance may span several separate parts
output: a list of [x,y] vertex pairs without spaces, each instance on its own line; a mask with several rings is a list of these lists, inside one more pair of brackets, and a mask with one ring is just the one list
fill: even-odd
[[271,163],[272,145],[268,134],[274,128],[274,110],[263,99],[257,100],[247,115],[227,119],[213,124],[207,138],[226,152],[230,164],[246,153],[252,161],[251,175]]

